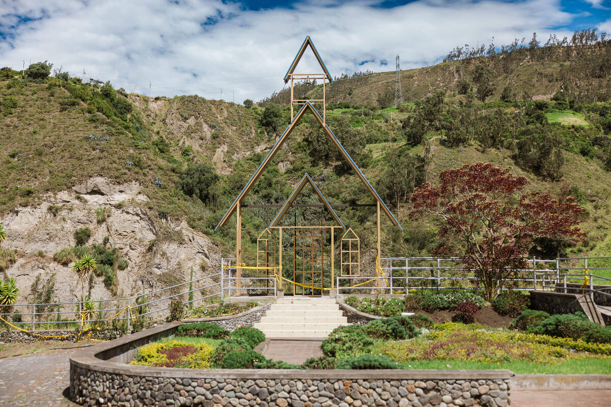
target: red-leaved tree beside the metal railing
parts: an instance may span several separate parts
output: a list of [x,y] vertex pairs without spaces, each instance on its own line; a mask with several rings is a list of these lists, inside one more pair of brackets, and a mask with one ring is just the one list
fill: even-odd
[[442,220],[440,237],[453,240],[455,248],[439,247],[440,253],[463,259],[475,270],[478,286],[487,298],[524,268],[525,256],[541,237],[572,243],[584,238],[577,224],[584,208],[572,196],[558,201],[541,193],[522,193],[529,181],[509,170],[478,162],[441,171],[439,186],[430,183],[415,189],[411,218]]

